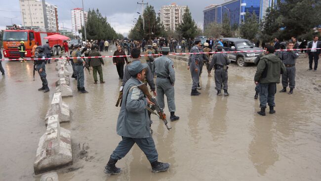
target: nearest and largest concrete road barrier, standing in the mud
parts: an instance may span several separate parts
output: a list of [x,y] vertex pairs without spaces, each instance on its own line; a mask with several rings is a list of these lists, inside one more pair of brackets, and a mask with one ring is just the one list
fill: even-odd
[[40,137],[34,163],[36,175],[73,163],[71,132],[60,127],[59,118],[58,115],[50,116],[47,130]]

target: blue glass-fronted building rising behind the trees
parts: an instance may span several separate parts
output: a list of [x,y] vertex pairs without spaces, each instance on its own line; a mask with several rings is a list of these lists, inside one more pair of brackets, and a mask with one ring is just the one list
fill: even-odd
[[245,13],[253,11],[258,17],[260,15],[261,0],[231,0],[219,5],[213,5],[203,10],[204,29],[208,24],[216,22],[221,24],[224,16],[230,19],[230,25],[240,25],[244,20]]

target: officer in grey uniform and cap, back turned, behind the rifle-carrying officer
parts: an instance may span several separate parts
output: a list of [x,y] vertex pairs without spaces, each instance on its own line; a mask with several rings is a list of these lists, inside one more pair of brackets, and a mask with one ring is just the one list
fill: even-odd
[[157,100],[161,108],[165,107],[164,94],[167,97],[168,110],[170,112],[170,121],[179,120],[178,116],[175,116],[175,70],[174,63],[167,55],[169,53],[169,47],[162,47],[162,56],[154,60],[153,71],[155,72],[156,86],[157,86]]

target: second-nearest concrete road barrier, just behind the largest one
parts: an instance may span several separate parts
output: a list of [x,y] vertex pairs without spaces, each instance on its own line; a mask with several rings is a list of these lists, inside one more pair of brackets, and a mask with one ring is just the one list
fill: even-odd
[[61,92],[53,94],[51,105],[45,118],[46,122],[51,115],[59,115],[60,122],[70,122],[69,106],[62,101]]

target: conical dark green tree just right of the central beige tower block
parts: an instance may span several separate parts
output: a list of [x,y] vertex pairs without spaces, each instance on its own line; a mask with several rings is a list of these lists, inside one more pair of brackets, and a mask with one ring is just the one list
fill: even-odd
[[180,31],[180,35],[185,38],[194,38],[198,33],[196,23],[192,19],[192,15],[188,7],[183,14],[183,22],[178,26],[178,30]]

